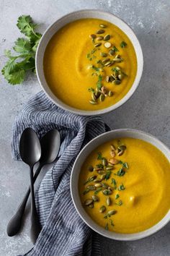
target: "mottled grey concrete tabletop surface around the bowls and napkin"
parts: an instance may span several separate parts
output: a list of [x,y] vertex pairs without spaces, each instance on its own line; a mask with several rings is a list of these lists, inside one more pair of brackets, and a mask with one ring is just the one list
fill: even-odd
[[[160,0],[0,0],[0,66],[6,58],[4,49],[11,48],[20,36],[17,17],[30,14],[43,32],[63,14],[78,9],[104,9],[133,27],[144,55],[144,71],[138,90],[128,103],[104,116],[112,129],[130,127],[156,135],[170,146],[170,1]],[[27,77],[23,85],[8,85],[0,78],[0,255],[12,256],[32,247],[30,220],[22,232],[12,238],[6,235],[6,224],[14,214],[28,184],[28,171],[23,163],[11,157],[11,127],[23,104],[40,90],[36,77]],[[101,237],[103,256],[168,256],[170,223],[157,234],[136,242],[116,242]],[[53,256],[53,255],[49,255]]]

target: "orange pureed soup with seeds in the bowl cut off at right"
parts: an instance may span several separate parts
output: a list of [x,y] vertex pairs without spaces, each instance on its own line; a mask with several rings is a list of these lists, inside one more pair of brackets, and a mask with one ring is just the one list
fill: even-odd
[[[122,152],[117,147],[122,147]],[[106,158],[107,163],[115,158],[120,163],[106,171],[102,166],[105,160],[97,157]],[[99,146],[86,158],[79,176],[79,195],[86,212],[100,226],[117,233],[135,233],[151,228],[169,211],[169,184],[170,164],[160,150],[143,140],[121,138]]]

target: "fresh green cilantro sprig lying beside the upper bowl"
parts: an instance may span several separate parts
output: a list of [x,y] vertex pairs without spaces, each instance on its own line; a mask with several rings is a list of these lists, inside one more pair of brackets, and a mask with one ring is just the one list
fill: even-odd
[[20,16],[17,27],[25,38],[17,38],[14,42],[13,50],[17,53],[16,55],[9,50],[5,51],[4,54],[9,60],[1,69],[4,78],[11,85],[22,83],[28,71],[35,72],[35,52],[42,36],[35,32],[37,24],[32,22],[30,15]]

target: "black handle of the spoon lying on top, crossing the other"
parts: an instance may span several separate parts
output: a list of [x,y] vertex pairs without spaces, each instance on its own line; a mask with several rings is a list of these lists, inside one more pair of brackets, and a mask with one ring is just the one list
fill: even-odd
[[31,230],[30,237],[32,243],[35,244],[38,235],[41,231],[40,221],[37,216],[37,210],[35,206],[35,192],[34,192],[34,181],[33,181],[33,166],[30,166],[30,189],[31,189]]

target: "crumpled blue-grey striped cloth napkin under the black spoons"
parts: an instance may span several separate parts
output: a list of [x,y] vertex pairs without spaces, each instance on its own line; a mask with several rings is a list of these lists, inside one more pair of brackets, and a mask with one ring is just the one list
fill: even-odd
[[36,192],[42,231],[29,256],[101,255],[99,237],[81,220],[71,200],[73,162],[89,140],[109,130],[99,116],[78,116],[64,111],[45,93],[37,93],[17,115],[12,127],[12,156],[20,160],[19,138],[31,127],[41,138],[50,129],[61,135],[59,160],[42,179]]

